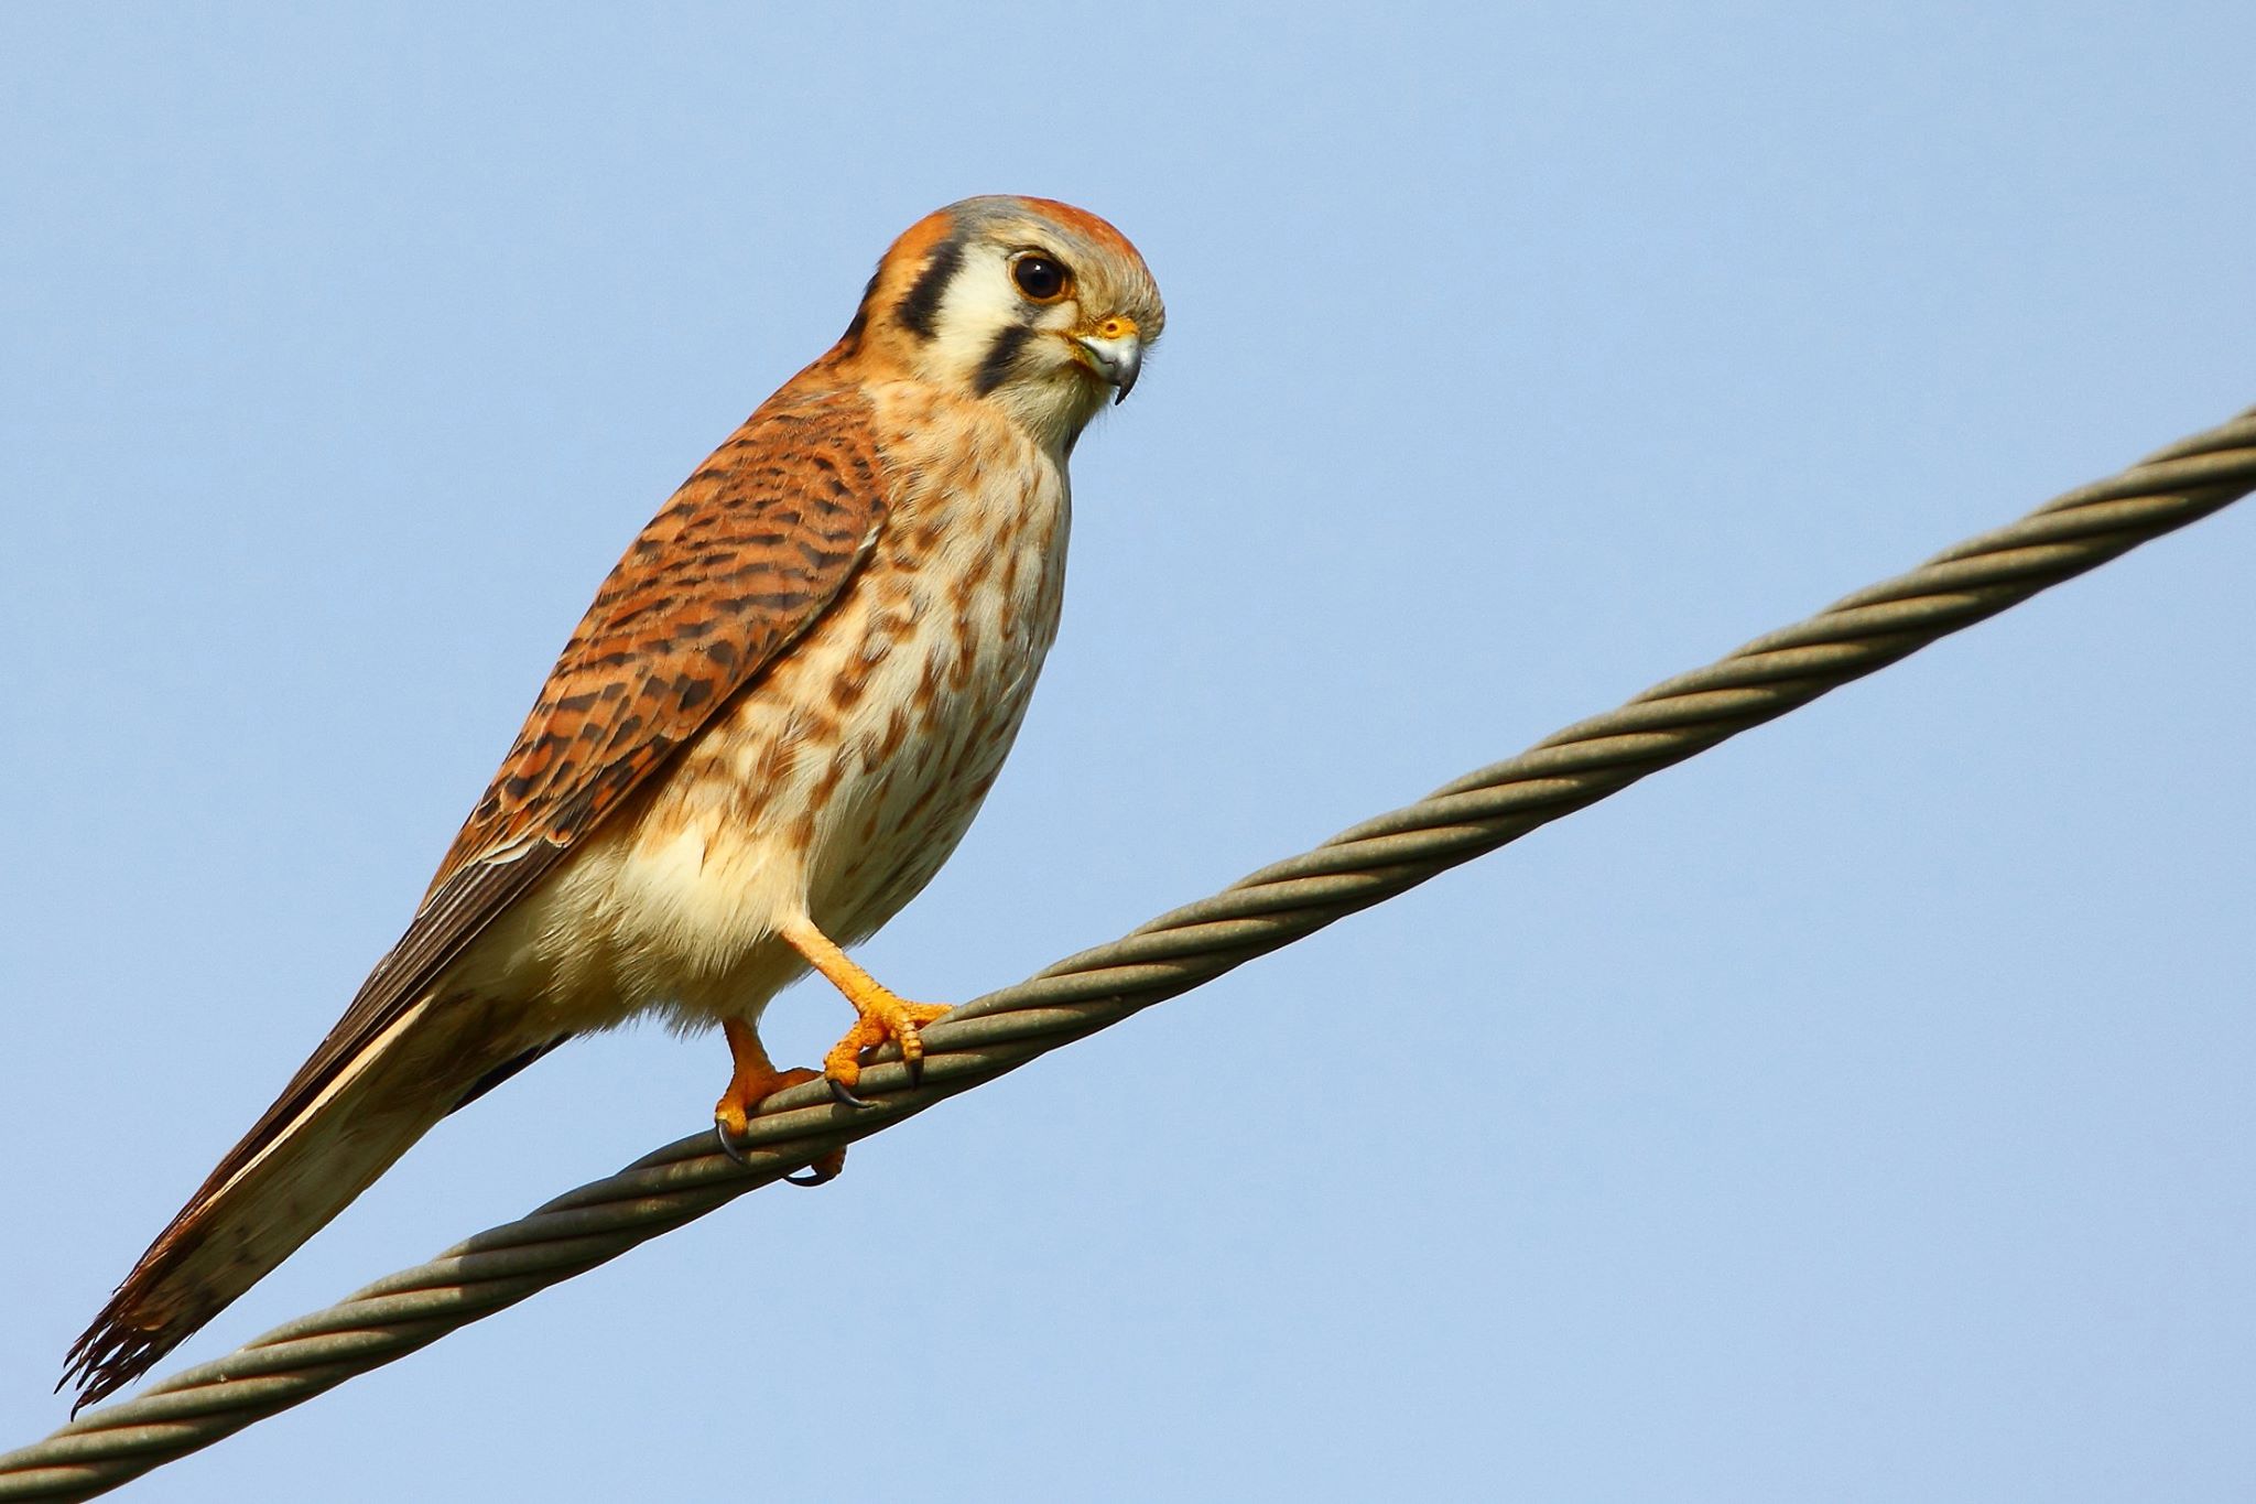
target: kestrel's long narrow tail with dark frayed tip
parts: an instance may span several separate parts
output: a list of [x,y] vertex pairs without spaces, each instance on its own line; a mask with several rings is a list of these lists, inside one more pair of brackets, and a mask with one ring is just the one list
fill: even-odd
[[[541,1049],[499,1049],[485,1008],[424,999],[298,1071],[70,1348],[72,1414],[147,1373],[320,1231],[442,1116]],[[61,1389],[63,1384],[56,1384]]]

